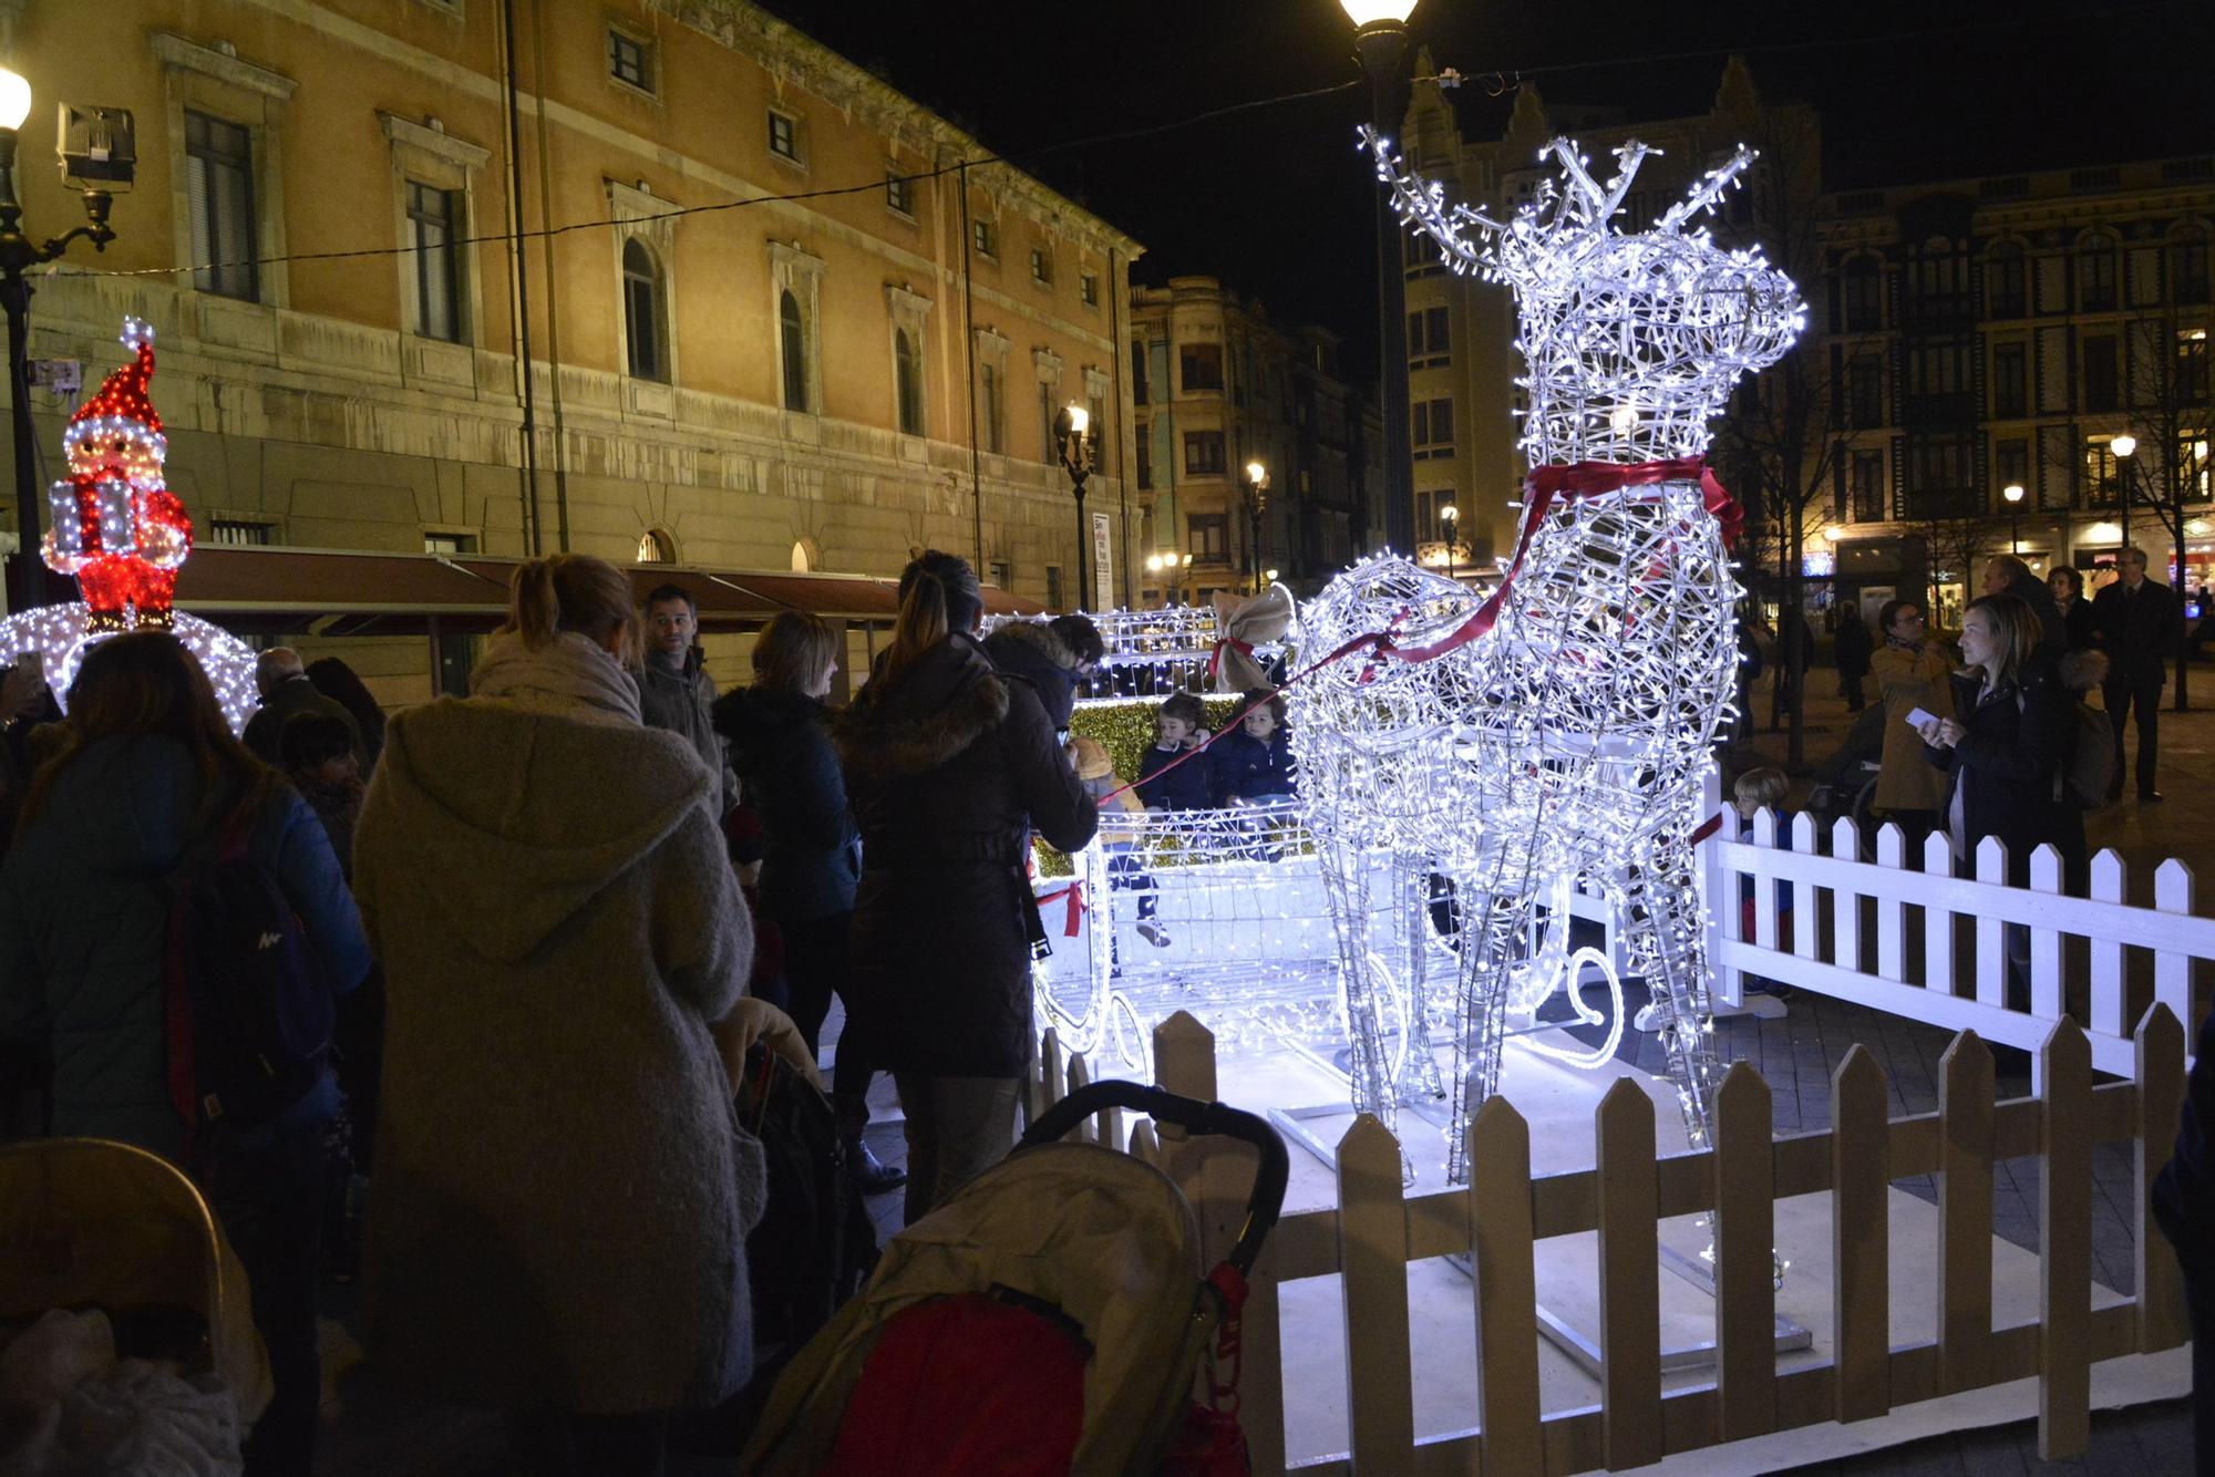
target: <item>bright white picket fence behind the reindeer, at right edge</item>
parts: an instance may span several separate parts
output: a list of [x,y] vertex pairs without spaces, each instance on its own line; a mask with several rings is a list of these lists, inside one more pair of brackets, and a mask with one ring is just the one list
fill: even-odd
[[[1730,839],[1732,822],[1725,817],[1725,833],[1701,848],[1710,959],[1719,999],[1732,1005],[1743,999],[1745,977],[1761,977],[2031,1052],[2058,1021],[2075,1016],[2093,1070],[2115,1076],[2133,1072],[2133,1023],[2149,1003],[2166,1005],[2186,1027],[2199,1019],[2191,1008],[2193,968],[2215,959],[2215,919],[2193,917],[2193,872],[2182,861],[2153,872],[2153,908],[2140,908],[2124,901],[2124,861],[2113,850],[2093,857],[2089,897],[2067,897],[2051,846],[2031,853],[2029,888],[2011,888],[2007,850],[1993,837],[1978,846],[1974,875],[1956,875],[1938,833],[1923,846],[1923,868],[1912,870],[1892,824],[1876,833],[1876,861],[1863,861],[1852,819],[1825,835],[1810,815],[1779,826],[1761,810],[1745,841]],[[1752,937],[1741,879],[1754,888]],[[1781,926],[1785,888],[1790,939]],[[2029,992],[2013,1001],[2011,923],[2029,930]],[[2071,937],[2084,943],[2071,948]],[[2133,981],[2126,946],[2151,954],[2151,974],[2142,970]],[[2082,977],[2064,970],[2075,957],[2087,959]]]

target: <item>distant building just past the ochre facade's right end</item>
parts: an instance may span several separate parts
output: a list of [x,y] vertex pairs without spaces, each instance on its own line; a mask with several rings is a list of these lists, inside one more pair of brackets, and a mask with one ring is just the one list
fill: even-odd
[[[1132,288],[1130,314],[1141,602],[1207,602],[1271,569],[1307,591],[1353,562],[1382,527],[1382,421],[1336,334],[1280,328],[1214,277]],[[1269,478],[1258,543],[1249,461]]]

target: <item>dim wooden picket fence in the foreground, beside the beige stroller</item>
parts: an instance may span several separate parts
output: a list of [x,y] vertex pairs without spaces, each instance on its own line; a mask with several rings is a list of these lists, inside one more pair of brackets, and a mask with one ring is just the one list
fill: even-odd
[[[1819,1422],[1883,1417],[1938,1395],[2038,1375],[2038,1450],[2084,1450],[2091,1366],[2173,1349],[2188,1337],[2175,1258],[2149,1213],[2184,1098],[2184,1030],[2155,1003],[2133,1032],[2126,1081],[2093,1085],[2087,1036],[2071,1021],[2040,1043],[2042,1092],[1993,1101],[1991,1050],[1962,1032],[1943,1058],[1940,1107],[1887,1118],[1885,1074],[1854,1047],[1832,1076],[1832,1129],[1772,1136],[1770,1087],[1737,1063],[1717,1092],[1712,1151],[1655,1151],[1652,1101],[1617,1081],[1595,1109],[1593,1169],[1531,1176],[1531,1134],[1504,1098],[1469,1129],[1466,1189],[1407,1196],[1400,1145],[1362,1116],[1338,1145],[1338,1207],[1287,1216],[1256,1267],[1245,1313],[1243,1424],[1256,1473],[1287,1473],[1278,1289],[1338,1275],[1347,1344],[1347,1457],[1307,1461],[1320,1475],[1621,1470]],[[1156,1078],[1216,1096],[1214,1039],[1178,1012],[1154,1032]],[[1088,1081],[1052,1032],[1030,1083],[1039,1112]],[[1251,1149],[1183,1140],[1114,1114],[1079,1129],[1161,1165],[1201,1216],[1209,1256],[1238,1229]],[[2135,1163],[2137,1295],[2091,1306],[2091,1151],[2129,1143]],[[1991,1185],[2000,1160],[2040,1156],[2040,1318],[1991,1326]],[[1936,1340],[1889,1335],[1889,1207],[1896,1178],[1936,1176]],[[1834,1340],[1830,1362],[1776,1373],[1774,1205],[1832,1194]],[[1712,1382],[1663,1391],[1657,1222],[1712,1211],[1717,1366]],[[1599,1238],[1599,1406],[1539,1404],[1533,1256],[1553,1236]],[[1464,1428],[1418,1439],[1409,1344],[1409,1262],[1466,1256],[1475,1280],[1477,1406]],[[1435,1357],[1435,1355],[1433,1355]]]

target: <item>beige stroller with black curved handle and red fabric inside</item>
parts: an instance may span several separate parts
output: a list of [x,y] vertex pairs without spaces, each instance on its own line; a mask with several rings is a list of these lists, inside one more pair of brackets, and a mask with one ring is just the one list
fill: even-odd
[[[1238,1242],[1205,1280],[1198,1225],[1165,1174],[1059,1143],[1110,1107],[1260,1151]],[[1187,1422],[1216,1419],[1223,1437],[1223,1417],[1192,1411],[1194,1373],[1218,1324],[1236,1342],[1287,1169],[1285,1143],[1254,1114],[1139,1083],[1079,1087],[893,1238],[862,1295],[784,1371],[740,1470],[1125,1477],[1158,1470]],[[1234,1444],[1216,1439],[1209,1457]]]

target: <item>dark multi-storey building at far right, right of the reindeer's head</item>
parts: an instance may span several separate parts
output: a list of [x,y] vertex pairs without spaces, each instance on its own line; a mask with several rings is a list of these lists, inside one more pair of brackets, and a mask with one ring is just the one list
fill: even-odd
[[1847,598],[1929,587],[1958,624],[2011,543],[2040,574],[2135,543],[2168,582],[2149,503],[2182,507],[2186,587],[2215,580],[2215,157],[1834,193],[1821,233]]

